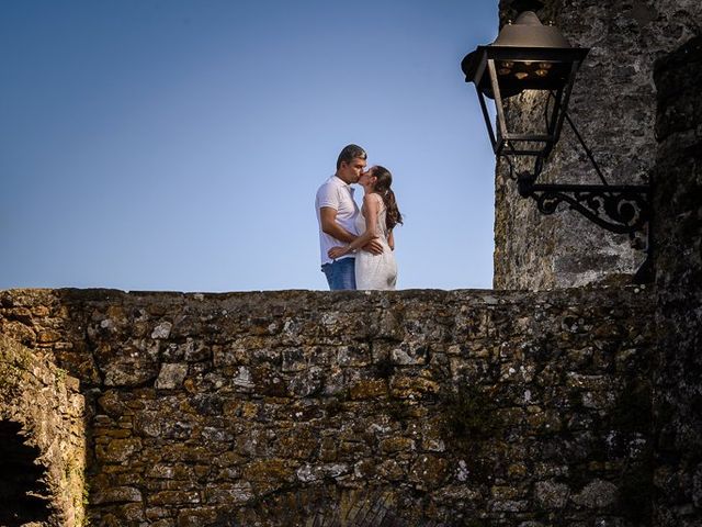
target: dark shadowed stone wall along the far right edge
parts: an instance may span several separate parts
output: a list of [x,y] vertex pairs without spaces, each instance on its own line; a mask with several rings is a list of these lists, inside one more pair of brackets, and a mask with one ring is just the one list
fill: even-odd
[[656,65],[657,524],[702,525],[702,37]]

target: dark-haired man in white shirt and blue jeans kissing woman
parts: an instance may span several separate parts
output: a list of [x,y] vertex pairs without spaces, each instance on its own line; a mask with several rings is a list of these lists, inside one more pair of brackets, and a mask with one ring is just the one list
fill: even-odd
[[[355,289],[355,257],[349,254],[332,260],[327,256],[331,247],[348,245],[359,233],[355,218],[359,208],[353,200],[352,183],[356,183],[366,165],[367,155],[358,145],[347,145],[337,159],[337,171],[317,190],[315,209],[319,223],[321,270],[331,291]],[[373,239],[363,247],[374,255],[383,253],[380,242]]]

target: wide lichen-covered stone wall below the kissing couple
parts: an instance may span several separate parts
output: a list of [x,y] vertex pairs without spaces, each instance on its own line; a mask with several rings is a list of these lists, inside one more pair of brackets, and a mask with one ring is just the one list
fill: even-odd
[[0,292],[94,526],[647,525],[649,290]]

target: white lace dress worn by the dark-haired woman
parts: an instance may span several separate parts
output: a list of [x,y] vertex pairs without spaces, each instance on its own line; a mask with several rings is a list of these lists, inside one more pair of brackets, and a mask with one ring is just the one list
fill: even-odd
[[[377,214],[378,240],[383,244],[383,254],[373,255],[367,250],[358,250],[355,255],[355,285],[356,289],[393,290],[397,283],[397,262],[395,253],[387,243],[387,226],[385,225],[386,209],[383,199],[377,199],[380,208]],[[365,232],[365,217],[363,211],[356,216],[355,226],[358,233]]]

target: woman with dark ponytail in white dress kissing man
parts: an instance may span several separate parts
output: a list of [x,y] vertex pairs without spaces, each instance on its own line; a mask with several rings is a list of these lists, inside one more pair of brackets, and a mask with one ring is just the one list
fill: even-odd
[[358,289],[395,289],[397,282],[397,264],[395,262],[395,239],[393,228],[403,223],[397,209],[395,193],[390,189],[393,176],[387,168],[376,165],[363,172],[359,179],[363,187],[363,206],[356,216],[356,229],[361,234],[350,245],[329,249],[330,258],[340,258],[371,239],[377,238],[383,244],[383,253],[371,254],[359,250],[355,255],[355,282]]

